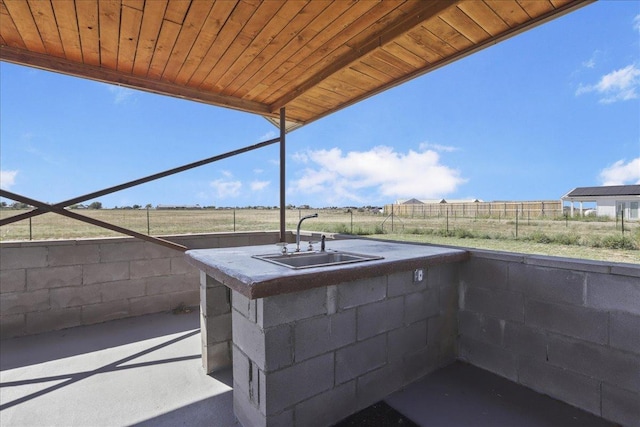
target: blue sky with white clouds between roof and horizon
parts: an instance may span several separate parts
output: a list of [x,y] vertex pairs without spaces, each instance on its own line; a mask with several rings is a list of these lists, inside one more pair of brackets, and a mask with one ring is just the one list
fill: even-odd
[[[277,136],[248,113],[4,62],[0,107],[2,188],[49,203]],[[276,206],[278,158],[97,200]],[[293,131],[286,161],[287,203],[314,207],[640,184],[640,2],[586,6]]]

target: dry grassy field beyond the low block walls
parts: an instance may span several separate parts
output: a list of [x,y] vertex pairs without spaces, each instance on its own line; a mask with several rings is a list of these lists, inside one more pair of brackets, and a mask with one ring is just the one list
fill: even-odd
[[[0,210],[0,217],[22,213]],[[189,233],[279,229],[277,209],[77,210],[102,221],[154,236]],[[640,263],[640,223],[589,220],[497,218],[385,217],[345,209],[298,210],[286,213],[287,229],[299,218],[318,212],[303,229],[348,233],[382,239],[483,248],[509,252]],[[56,214],[44,214],[0,228],[0,240],[46,240],[109,237],[119,234]]]

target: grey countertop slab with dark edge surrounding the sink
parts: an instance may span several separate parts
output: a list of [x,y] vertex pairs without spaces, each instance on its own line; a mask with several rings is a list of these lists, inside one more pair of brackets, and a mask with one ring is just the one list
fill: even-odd
[[[384,259],[294,270],[252,258],[253,255],[278,254],[280,248],[275,244],[196,249],[187,251],[186,256],[191,265],[251,299],[336,285],[429,265],[464,261],[468,258],[468,253],[461,249],[369,239],[327,240],[326,246],[328,251],[357,252],[382,256]],[[294,247],[295,245],[289,244],[289,250]]]

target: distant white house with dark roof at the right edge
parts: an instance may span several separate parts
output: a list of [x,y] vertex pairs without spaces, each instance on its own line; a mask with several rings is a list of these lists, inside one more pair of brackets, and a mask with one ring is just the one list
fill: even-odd
[[570,214],[574,215],[574,205],[579,203],[584,214],[583,203],[595,203],[596,215],[615,218],[620,213],[625,219],[638,220],[640,205],[640,185],[609,185],[603,187],[574,188],[561,198],[563,204],[569,202]]

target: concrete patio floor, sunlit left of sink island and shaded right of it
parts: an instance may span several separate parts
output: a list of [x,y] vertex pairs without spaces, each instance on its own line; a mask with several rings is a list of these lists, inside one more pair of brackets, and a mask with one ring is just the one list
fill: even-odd
[[[231,370],[204,375],[197,312],[0,343],[0,425],[238,426]],[[387,399],[421,426],[613,426],[455,363]]]

